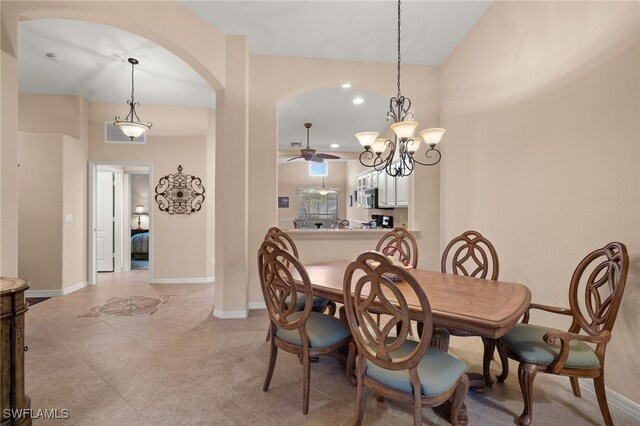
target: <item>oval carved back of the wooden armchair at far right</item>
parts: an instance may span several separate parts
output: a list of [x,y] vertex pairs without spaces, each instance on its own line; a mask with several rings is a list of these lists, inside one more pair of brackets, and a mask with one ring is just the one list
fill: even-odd
[[594,336],[611,331],[618,315],[629,271],[629,255],[622,243],[613,242],[589,253],[577,266],[569,287],[573,324]]

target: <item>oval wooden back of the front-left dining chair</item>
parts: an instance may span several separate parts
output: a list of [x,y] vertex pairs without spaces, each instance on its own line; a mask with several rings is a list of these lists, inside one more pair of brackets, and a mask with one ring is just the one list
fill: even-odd
[[[294,270],[302,281],[304,291],[296,288],[296,280],[292,274]],[[300,261],[278,244],[264,241],[258,250],[258,275],[271,322],[285,330],[304,328],[313,308],[313,292],[307,271]],[[306,298],[302,315],[292,320],[289,317],[299,312],[296,311],[296,302],[299,294],[303,293]]]

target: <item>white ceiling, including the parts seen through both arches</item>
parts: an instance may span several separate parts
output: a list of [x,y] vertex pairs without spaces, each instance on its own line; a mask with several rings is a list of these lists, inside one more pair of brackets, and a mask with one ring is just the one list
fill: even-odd
[[[216,28],[247,35],[255,55],[282,55],[394,63],[395,1],[181,1]],[[489,7],[490,1],[405,1],[402,63],[439,65]],[[215,106],[215,92],[180,58],[115,27],[85,21],[38,19],[19,25],[21,93],[83,96],[91,102]],[[46,54],[55,53],[59,61]],[[365,102],[352,103],[360,95]],[[340,88],[303,94],[278,106],[278,144],[306,143],[322,152],[359,151],[353,135],[386,127],[388,99]],[[124,105],[126,109],[126,105]],[[125,110],[114,111],[126,113]],[[340,148],[330,148],[331,143]],[[298,149],[298,148],[293,148]]]

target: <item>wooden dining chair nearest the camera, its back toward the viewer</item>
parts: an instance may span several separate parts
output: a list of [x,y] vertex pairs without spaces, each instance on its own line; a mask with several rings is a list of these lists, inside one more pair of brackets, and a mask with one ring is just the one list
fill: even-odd
[[[394,281],[406,287],[400,291]],[[345,271],[344,300],[347,322],[357,347],[356,411],[353,424],[364,417],[365,387],[378,400],[394,399],[413,404],[414,425],[422,424],[422,407],[450,404],[451,424],[466,424],[464,398],[469,388],[465,364],[447,352],[429,346],[431,307],[416,279],[386,256],[362,253]],[[404,294],[403,294],[404,293]],[[426,325],[419,341],[408,339],[409,304],[420,307]],[[385,314],[379,324],[371,308]],[[401,325],[395,336],[390,332]]]

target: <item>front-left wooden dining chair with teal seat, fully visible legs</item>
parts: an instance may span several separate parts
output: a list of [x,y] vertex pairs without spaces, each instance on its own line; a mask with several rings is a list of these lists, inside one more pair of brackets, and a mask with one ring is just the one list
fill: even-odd
[[[303,290],[296,286],[294,272]],[[313,291],[304,266],[278,244],[264,241],[258,250],[258,273],[271,326],[271,352],[263,391],[269,390],[278,349],[298,355],[302,362],[302,413],[309,412],[310,362],[312,357],[330,355],[345,361],[347,376],[353,371],[355,346],[349,325],[339,318],[312,310]],[[299,294],[304,306],[296,310]],[[338,350],[348,347],[348,357]]]

